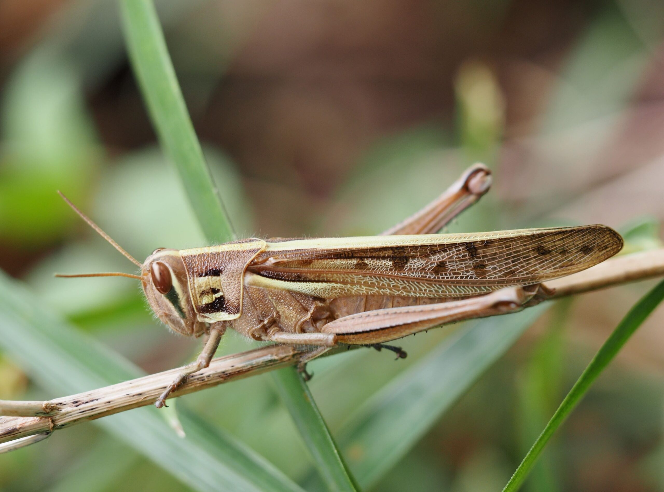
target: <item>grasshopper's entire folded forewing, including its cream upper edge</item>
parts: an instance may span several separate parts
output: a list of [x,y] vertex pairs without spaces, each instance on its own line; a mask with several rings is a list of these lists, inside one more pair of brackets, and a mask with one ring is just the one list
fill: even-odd
[[579,272],[622,248],[606,226],[268,242],[252,284],[334,297],[463,297]]

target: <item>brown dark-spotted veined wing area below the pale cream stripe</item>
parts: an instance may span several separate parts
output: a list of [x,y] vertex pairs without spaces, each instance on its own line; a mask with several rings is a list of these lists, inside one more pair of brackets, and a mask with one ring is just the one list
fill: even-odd
[[[370,287],[380,280],[402,286],[410,283],[459,287],[527,285],[584,270],[622,247],[622,238],[606,226],[524,230],[522,235],[513,232],[508,231],[502,237],[487,239],[480,235],[477,240],[458,242],[441,238],[440,243],[302,250],[299,255],[290,250],[281,257],[274,252],[274,256],[266,258],[267,263],[249,269],[274,280],[347,286]],[[421,253],[419,248],[424,248]],[[353,260],[358,263],[349,266]],[[358,268],[359,262],[365,260],[375,262],[374,270]],[[398,264],[400,261],[403,264]],[[325,268],[328,262],[330,268]],[[436,270],[441,263],[449,266]],[[308,264],[311,267],[307,268]]]

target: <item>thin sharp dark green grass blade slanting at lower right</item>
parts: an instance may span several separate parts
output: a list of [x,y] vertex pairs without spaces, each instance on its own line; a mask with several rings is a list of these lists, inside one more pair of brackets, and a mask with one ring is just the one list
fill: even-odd
[[641,323],[653,312],[655,307],[664,299],[664,281],[660,282],[644,297],[642,297],[630,310],[627,315],[620,321],[618,327],[610,335],[607,341],[602,345],[595,357],[593,357],[588,367],[582,372],[570,392],[565,396],[564,400],[558,407],[558,410],[553,414],[551,420],[548,421],[546,427],[540,434],[539,438],[533,444],[533,447],[528,451],[526,456],[521,461],[521,464],[512,475],[503,492],[517,491],[523,484],[533,465],[537,461],[542,450],[546,446],[548,440],[554,432],[560,427],[562,422],[574,410],[576,405],[580,402],[581,398],[588,392],[588,389],[604,369],[613,361],[616,354],[622,349],[623,345],[629,340],[629,337],[641,326]]

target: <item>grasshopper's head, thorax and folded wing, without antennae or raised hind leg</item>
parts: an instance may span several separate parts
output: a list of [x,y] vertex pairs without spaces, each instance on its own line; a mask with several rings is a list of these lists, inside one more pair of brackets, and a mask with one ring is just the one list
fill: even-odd
[[[270,340],[280,333],[325,333],[331,321],[367,311],[538,284],[584,270],[622,246],[605,226],[377,237],[248,239],[159,250],[146,260],[143,278],[166,265],[172,289],[158,291],[154,276],[143,287],[157,315],[179,333],[231,325]],[[351,331],[328,343],[316,337],[293,343],[381,343],[407,334]]]

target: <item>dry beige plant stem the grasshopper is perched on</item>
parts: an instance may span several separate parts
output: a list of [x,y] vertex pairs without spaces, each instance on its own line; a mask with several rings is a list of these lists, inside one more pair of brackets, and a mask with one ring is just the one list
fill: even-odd
[[[548,282],[546,287],[555,289],[553,297],[556,298],[662,275],[664,248],[612,258],[584,272]],[[288,345],[270,345],[213,359],[206,369],[191,374],[171,396],[294,365],[305,354]],[[171,369],[45,402],[0,400],[0,412],[5,415],[0,417],[0,443],[153,404],[180,371]],[[11,449],[19,444],[29,442],[13,442]],[[0,449],[5,450],[8,449]]]

